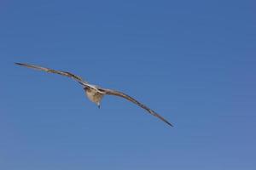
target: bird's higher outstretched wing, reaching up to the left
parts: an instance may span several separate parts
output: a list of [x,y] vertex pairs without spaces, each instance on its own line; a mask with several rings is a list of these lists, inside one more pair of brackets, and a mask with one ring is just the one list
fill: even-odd
[[64,77],[70,77],[70,78],[73,78],[75,81],[77,82],[80,82],[81,84],[83,85],[86,85],[88,84],[88,82],[85,82],[81,77],[78,77],[70,72],[67,72],[67,71],[55,71],[55,70],[52,70],[52,69],[49,69],[49,68],[45,68],[45,67],[42,67],[42,66],[38,66],[38,65],[28,65],[28,64],[25,64],[25,63],[15,63],[16,65],[22,65],[22,66],[26,66],[28,68],[32,68],[32,69],[36,69],[38,71],[46,71],[46,72],[50,72],[50,73],[55,73],[55,74],[59,74],[61,76],[64,76]]

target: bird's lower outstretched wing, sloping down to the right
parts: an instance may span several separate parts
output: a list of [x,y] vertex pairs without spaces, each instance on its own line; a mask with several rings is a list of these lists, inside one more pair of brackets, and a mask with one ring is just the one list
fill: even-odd
[[128,99],[129,101],[131,101],[132,103],[142,107],[144,110],[148,111],[151,115],[156,116],[158,118],[160,118],[160,120],[162,120],[163,122],[166,122],[168,125],[170,125],[171,127],[172,124],[168,121],[166,121],[166,119],[162,116],[160,116],[159,114],[157,114],[156,112],[152,111],[151,109],[149,109],[146,105],[141,104],[140,102],[138,102],[136,99],[131,98],[131,96],[115,91],[115,90],[111,90],[111,89],[106,89],[106,88],[98,88],[100,91],[104,92],[105,94],[109,94],[109,95],[115,95],[115,96],[119,96],[125,99]]

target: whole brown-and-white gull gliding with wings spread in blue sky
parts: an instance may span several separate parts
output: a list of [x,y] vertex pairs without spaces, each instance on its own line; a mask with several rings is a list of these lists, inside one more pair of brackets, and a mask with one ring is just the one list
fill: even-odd
[[133,99],[131,96],[124,94],[122,92],[119,92],[119,91],[116,91],[113,89],[108,89],[108,88],[101,88],[99,86],[90,84],[89,82],[84,81],[81,77],[78,77],[78,76],[74,75],[73,73],[70,73],[67,71],[55,71],[53,69],[45,68],[42,66],[28,65],[25,63],[15,63],[15,64],[21,65],[21,66],[26,66],[28,68],[35,69],[38,71],[46,71],[49,73],[55,73],[55,74],[59,74],[64,77],[72,78],[73,80],[75,80],[76,82],[79,82],[79,84],[81,84],[83,86],[85,94],[87,95],[88,99],[90,99],[91,102],[95,103],[99,108],[101,106],[101,101],[102,101],[102,98],[104,95],[119,96],[121,98],[125,98],[125,99],[131,101],[132,103],[142,107],[144,110],[148,111],[148,113],[150,113],[151,115],[158,117],[161,121],[166,122],[169,126],[173,127],[172,123],[166,121],[166,119],[164,117],[160,116],[153,110],[149,109],[146,105],[143,105],[142,103],[138,102],[137,99]]

